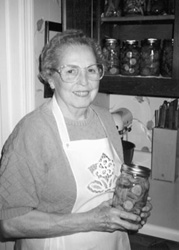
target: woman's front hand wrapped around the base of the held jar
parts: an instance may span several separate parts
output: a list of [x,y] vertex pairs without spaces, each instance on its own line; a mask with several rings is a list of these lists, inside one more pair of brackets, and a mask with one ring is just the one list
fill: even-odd
[[126,212],[122,207],[121,209],[112,207],[112,200],[102,202],[99,206],[90,210],[88,215],[90,216],[89,223],[92,222],[92,228],[89,231],[137,231],[141,228],[141,217],[139,215]]

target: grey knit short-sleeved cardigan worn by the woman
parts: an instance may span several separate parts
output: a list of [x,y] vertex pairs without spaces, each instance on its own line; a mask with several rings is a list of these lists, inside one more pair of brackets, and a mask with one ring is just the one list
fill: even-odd
[[[98,106],[92,108],[123,161],[121,139],[111,114]],[[74,176],[48,101],[26,115],[5,143],[0,168],[0,219],[32,209],[70,213],[75,199]]]

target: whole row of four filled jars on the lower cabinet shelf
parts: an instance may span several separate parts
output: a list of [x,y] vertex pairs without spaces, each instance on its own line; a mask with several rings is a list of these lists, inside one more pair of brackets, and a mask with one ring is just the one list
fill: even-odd
[[174,39],[142,41],[105,39],[106,73],[126,76],[172,76]]

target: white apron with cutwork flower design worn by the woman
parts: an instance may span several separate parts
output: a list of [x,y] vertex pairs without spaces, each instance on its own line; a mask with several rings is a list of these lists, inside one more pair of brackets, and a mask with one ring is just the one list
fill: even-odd
[[[56,100],[53,98],[53,104]],[[70,141],[63,115],[53,105],[65,153],[77,186],[72,213],[85,212],[112,198],[121,161],[108,139]],[[126,233],[84,232],[45,240],[44,250],[129,250]]]

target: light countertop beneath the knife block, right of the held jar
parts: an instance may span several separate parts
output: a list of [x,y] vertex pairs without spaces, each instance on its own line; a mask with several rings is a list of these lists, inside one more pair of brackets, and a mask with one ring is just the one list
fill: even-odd
[[149,195],[153,209],[139,233],[179,242],[179,178],[150,180]]

